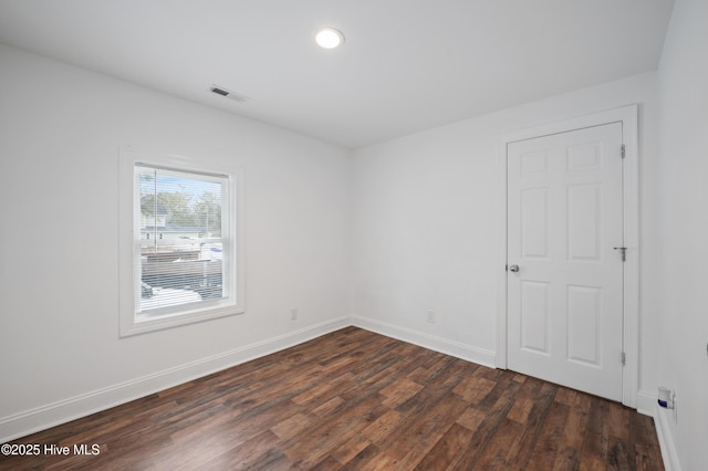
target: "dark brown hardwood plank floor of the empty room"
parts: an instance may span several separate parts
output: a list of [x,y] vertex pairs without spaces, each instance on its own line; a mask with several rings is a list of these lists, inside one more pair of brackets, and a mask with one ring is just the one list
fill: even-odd
[[649,417],[355,327],[14,443],[70,456],[1,469],[663,469]]

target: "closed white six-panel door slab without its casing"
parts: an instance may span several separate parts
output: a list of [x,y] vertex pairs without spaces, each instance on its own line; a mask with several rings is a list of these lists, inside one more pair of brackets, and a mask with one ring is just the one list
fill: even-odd
[[621,401],[622,123],[507,157],[508,367]]

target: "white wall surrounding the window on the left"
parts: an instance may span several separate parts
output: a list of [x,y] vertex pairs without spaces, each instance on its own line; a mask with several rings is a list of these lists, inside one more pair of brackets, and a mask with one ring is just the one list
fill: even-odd
[[[118,338],[122,145],[242,166],[246,314]],[[337,326],[350,180],[343,148],[0,46],[0,442]]]

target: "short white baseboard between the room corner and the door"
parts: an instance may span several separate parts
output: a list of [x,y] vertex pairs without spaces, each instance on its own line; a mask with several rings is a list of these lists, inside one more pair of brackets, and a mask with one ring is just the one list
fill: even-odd
[[494,368],[494,353],[491,350],[472,347],[460,342],[449,341],[447,338],[429,335],[423,332],[414,331],[407,327],[375,321],[363,316],[352,316],[352,325],[387,337],[397,338],[409,344],[440,352],[467,362],[477,363],[479,365]]

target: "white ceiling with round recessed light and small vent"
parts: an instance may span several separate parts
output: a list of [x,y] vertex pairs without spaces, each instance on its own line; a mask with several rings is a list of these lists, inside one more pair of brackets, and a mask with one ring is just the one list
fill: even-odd
[[0,42],[356,148],[654,71],[673,4],[0,0]]

